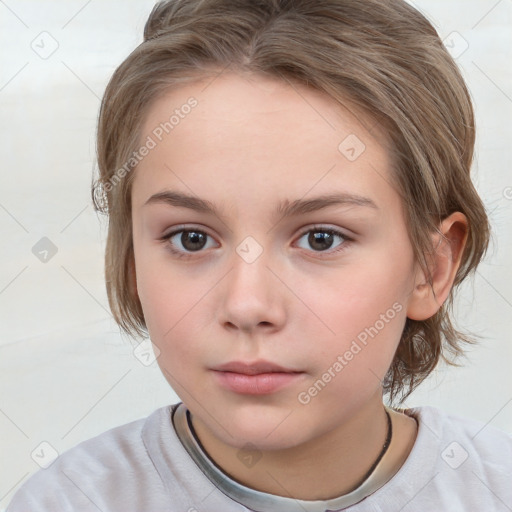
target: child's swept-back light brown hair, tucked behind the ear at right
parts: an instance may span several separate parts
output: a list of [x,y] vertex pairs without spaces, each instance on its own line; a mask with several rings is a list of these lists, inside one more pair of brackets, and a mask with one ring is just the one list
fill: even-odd
[[462,344],[475,342],[452,322],[453,294],[476,270],[490,237],[470,177],[475,123],[469,92],[430,22],[403,0],[170,0],[154,6],[144,41],[108,83],[98,120],[92,199],[109,218],[105,279],[116,322],[128,335],[147,336],[130,280],[130,171],[144,116],[178,85],[228,68],[322,91],[385,129],[414,256],[430,286],[432,235],[451,213],[467,217],[467,241],[447,300],[427,320],[406,319],[384,379],[390,399],[403,402],[440,358],[455,364]]

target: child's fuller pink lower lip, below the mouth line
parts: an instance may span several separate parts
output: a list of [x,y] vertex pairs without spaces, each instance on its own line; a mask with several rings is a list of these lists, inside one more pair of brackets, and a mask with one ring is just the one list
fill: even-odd
[[243,373],[215,371],[220,384],[244,395],[267,395],[274,393],[300,378],[300,373],[260,373],[246,375]]

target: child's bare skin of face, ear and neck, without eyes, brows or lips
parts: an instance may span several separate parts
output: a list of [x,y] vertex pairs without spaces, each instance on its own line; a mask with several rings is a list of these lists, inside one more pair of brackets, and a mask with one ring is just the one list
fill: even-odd
[[[451,215],[440,225],[446,239],[432,237],[439,244],[434,298],[391,185],[388,142],[378,130],[365,129],[372,120],[303,86],[224,73],[156,101],[141,140],[191,96],[198,105],[141,161],[132,188],[133,286],[160,350],[158,364],[191,411],[202,445],[226,473],[273,494],[339,496],[359,483],[382,449],[382,378],[406,317],[429,318],[447,298],[466,219]],[[338,149],[350,134],[366,146],[354,161]],[[211,201],[219,215],[144,205],[165,189]],[[370,198],[377,208],[350,204],[287,218],[273,214],[282,200],[333,191]],[[171,242],[161,240],[173,228],[203,231],[206,245],[193,252],[180,233],[174,247],[189,257],[178,258]],[[308,229],[326,228],[353,241],[334,237],[330,247],[315,250]],[[237,252],[248,236],[262,250],[251,263]],[[401,308],[394,318],[301,403],[298,394],[393,304]],[[258,359],[302,373],[281,390],[251,396],[223,388],[212,371]],[[403,461],[416,422],[404,414],[395,421],[394,457]],[[251,467],[240,457],[249,448],[259,458]]]

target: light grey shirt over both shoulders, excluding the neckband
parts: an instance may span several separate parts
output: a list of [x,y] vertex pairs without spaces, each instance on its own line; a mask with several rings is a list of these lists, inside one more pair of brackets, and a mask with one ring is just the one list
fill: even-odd
[[[217,489],[176,435],[179,404],[108,430],[61,454],[15,493],[7,512],[246,512]],[[435,407],[418,421],[408,458],[347,512],[512,510],[512,435]]]

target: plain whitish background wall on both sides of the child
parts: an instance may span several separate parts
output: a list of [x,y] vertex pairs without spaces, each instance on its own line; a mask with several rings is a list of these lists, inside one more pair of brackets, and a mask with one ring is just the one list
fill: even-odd
[[[106,223],[90,200],[100,98],[153,4],[0,0],[0,509],[39,469],[31,453],[48,452],[41,442],[62,453],[178,401],[112,320]],[[480,344],[406,405],[512,432],[512,0],[414,5],[452,47],[474,98],[474,181],[494,238],[458,301],[459,324]],[[33,252],[43,237],[57,249],[46,263]]]

